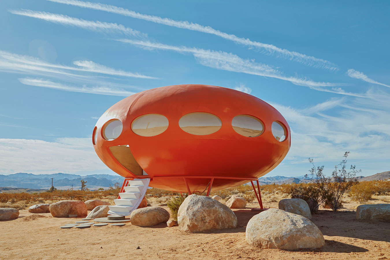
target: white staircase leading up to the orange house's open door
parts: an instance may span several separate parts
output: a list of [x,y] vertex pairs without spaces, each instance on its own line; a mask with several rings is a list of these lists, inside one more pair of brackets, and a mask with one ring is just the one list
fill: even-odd
[[140,205],[145,196],[150,178],[129,180],[128,186],[119,193],[120,199],[114,200],[115,206],[108,206],[109,215],[129,216]]

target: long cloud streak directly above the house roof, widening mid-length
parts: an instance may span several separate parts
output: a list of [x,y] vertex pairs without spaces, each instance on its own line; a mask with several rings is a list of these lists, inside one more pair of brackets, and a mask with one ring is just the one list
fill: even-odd
[[254,60],[243,59],[235,54],[227,53],[224,51],[204,50],[200,48],[192,48],[186,46],[172,46],[167,44],[161,44],[159,42],[138,41],[131,39],[118,39],[116,41],[140,46],[142,48],[145,48],[146,50],[160,49],[176,51],[179,53],[191,53],[194,55],[195,59],[200,64],[215,69],[222,69],[226,71],[246,73],[257,76],[265,76],[269,78],[277,78],[279,80],[289,81],[295,85],[309,87],[318,91],[331,92],[347,96],[365,97],[364,94],[346,92],[343,89],[338,88],[337,86],[344,85],[342,83],[318,82],[305,77],[300,78],[297,76],[285,76],[282,72],[278,71],[270,65],[258,63]]

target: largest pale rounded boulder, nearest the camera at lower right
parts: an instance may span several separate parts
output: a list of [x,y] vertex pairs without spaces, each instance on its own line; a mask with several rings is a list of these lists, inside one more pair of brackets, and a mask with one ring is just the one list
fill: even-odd
[[268,209],[253,216],[246,225],[245,240],[259,248],[285,250],[325,245],[324,236],[312,221],[281,209]]

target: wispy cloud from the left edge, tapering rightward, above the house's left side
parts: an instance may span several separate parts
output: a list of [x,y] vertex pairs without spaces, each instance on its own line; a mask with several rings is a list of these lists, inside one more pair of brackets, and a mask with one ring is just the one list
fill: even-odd
[[88,60],[78,60],[73,63],[78,67],[53,64],[40,60],[39,58],[27,55],[18,55],[8,51],[0,50],[0,71],[38,74],[44,76],[53,76],[53,74],[56,74],[76,78],[88,78],[88,76],[84,74],[74,74],[69,72],[75,71],[78,73],[87,72],[131,78],[156,79],[155,77],[145,76],[140,73],[132,73],[128,71],[122,71],[120,69],[113,69]]

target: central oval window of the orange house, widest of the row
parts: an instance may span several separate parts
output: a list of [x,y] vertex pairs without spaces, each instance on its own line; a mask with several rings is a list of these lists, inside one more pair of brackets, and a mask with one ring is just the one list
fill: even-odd
[[212,134],[221,129],[219,117],[210,113],[195,112],[183,115],[179,120],[180,128],[187,133],[196,135]]

